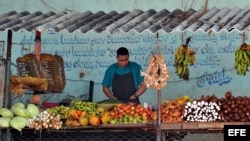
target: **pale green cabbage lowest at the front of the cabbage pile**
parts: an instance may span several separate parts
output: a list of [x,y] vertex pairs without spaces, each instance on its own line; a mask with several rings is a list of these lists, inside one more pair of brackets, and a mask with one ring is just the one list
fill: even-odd
[[18,131],[22,131],[22,129],[26,127],[26,124],[27,124],[27,119],[25,117],[16,116],[10,120],[10,127]]

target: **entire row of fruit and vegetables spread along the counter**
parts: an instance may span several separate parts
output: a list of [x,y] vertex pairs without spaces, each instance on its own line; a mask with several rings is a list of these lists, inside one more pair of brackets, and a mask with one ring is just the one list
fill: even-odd
[[[99,103],[114,104],[118,101],[103,100]],[[98,102],[97,102],[98,103]],[[0,108],[0,128],[24,128],[34,130],[64,129],[108,124],[151,124],[158,119],[158,111],[151,106],[134,103],[116,103],[112,108],[97,107],[95,102],[74,99],[69,106],[39,109],[35,104],[15,103],[10,109]],[[228,91],[225,97],[202,95],[191,100],[188,95],[161,103],[161,123],[181,122],[249,122],[250,97],[233,96]]]

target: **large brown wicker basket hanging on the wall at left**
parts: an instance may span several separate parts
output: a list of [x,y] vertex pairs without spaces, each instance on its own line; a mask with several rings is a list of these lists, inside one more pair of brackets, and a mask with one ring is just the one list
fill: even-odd
[[33,76],[46,78],[48,81],[47,92],[62,92],[66,85],[64,62],[61,56],[41,54],[37,62],[34,54],[26,54],[16,60],[19,76]]

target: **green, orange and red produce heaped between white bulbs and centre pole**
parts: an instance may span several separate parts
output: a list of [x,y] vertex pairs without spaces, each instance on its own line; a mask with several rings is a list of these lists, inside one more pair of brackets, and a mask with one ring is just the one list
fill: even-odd
[[[98,106],[98,105],[101,106]],[[113,107],[102,107],[105,104]],[[153,111],[142,105],[124,104],[114,100],[97,103],[72,100],[70,106],[47,108],[48,113],[60,115],[65,127],[99,126],[101,124],[148,123]]]

